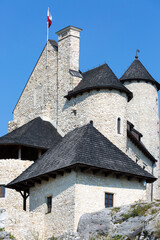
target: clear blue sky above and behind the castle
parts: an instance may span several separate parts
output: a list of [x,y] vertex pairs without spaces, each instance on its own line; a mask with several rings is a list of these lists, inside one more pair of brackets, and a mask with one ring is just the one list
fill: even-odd
[[46,43],[47,8],[53,16],[50,38],[73,25],[83,29],[80,70],[107,62],[120,77],[139,59],[160,81],[159,0],[0,0],[0,136]]

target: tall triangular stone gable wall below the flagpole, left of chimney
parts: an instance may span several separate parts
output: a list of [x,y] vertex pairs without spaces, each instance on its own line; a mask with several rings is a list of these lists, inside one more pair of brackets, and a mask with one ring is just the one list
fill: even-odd
[[48,42],[48,67],[44,48],[13,111],[14,120],[9,123],[20,127],[35,117],[48,117],[56,121],[57,101],[57,50]]

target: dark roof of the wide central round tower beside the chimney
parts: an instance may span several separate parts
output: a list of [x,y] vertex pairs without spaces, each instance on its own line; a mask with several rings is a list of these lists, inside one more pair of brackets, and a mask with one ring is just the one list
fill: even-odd
[[83,79],[80,83],[65,96],[67,99],[76,97],[91,90],[99,89],[116,89],[125,92],[130,100],[133,96],[132,93],[119,81],[109,66],[105,63],[97,68],[87,71],[82,74]]

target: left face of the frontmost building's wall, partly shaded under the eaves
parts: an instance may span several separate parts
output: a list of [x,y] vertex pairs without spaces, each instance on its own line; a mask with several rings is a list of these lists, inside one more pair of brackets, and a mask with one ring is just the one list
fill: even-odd
[[[30,189],[30,211],[44,214],[45,237],[74,230],[76,174],[64,174]],[[47,213],[47,197],[52,196],[52,212]]]

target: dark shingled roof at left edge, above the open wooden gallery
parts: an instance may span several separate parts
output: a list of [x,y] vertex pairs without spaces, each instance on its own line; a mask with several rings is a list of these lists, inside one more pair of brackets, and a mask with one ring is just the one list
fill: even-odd
[[23,145],[49,149],[61,140],[60,134],[50,122],[40,117],[0,138],[0,145]]

